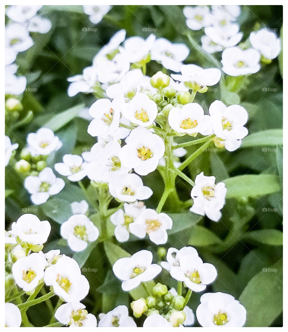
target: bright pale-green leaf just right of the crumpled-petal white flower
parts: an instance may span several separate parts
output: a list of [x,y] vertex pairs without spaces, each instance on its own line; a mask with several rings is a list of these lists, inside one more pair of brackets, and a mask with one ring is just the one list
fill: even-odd
[[273,174],[247,174],[223,181],[227,188],[226,198],[257,197],[280,190],[279,178]]

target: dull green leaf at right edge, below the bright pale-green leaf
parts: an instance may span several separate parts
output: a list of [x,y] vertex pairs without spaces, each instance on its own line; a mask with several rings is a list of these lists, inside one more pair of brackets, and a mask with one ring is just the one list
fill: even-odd
[[277,229],[259,229],[246,234],[245,239],[255,240],[272,246],[283,245],[283,233]]

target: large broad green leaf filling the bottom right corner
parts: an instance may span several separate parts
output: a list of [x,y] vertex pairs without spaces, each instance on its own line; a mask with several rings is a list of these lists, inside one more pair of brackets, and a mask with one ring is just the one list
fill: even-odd
[[246,327],[268,327],[282,311],[283,268],[277,263],[270,269],[254,276],[239,297],[247,310]]

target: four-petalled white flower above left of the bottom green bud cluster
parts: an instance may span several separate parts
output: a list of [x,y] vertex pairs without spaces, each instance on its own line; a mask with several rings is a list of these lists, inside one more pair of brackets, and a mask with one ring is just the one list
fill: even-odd
[[155,278],[161,272],[161,266],[152,263],[152,253],[140,250],[131,257],[118,259],[113,265],[113,272],[117,278],[123,280],[122,289],[133,290],[140,285]]

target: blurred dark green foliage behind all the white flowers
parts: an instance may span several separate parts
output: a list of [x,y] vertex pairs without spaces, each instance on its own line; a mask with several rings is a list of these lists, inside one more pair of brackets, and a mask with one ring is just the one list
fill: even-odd
[[[282,26],[282,6],[241,6],[240,31],[245,41],[255,27],[277,29]],[[19,143],[20,151],[29,132],[41,126],[49,126],[63,142],[63,147],[48,160],[48,166],[61,161],[65,153],[81,154],[91,147],[95,139],[86,132],[88,121],[79,118],[80,107],[89,107],[95,98],[92,94],[78,94],[68,97],[67,78],[81,74],[91,65],[97,51],[120,29],[127,31],[127,37],[147,38],[144,27],[157,29],[155,35],[172,42],[184,42],[191,49],[185,63],[202,67],[219,64],[220,54],[215,58],[200,53],[195,47],[203,35],[202,31],[190,31],[185,24],[183,6],[113,6],[96,26],[83,13],[82,6],[43,6],[41,12],[52,21],[52,29],[44,35],[32,33],[34,45],[19,53],[16,63],[18,73],[27,77],[27,87],[38,89],[36,93],[26,91],[23,96],[24,111],[33,118],[24,125],[6,124],[6,134],[12,142]],[[82,31],[83,27],[97,27],[97,32]],[[189,37],[188,37],[188,35]],[[216,99],[227,105],[239,103],[249,113],[247,127],[249,135],[240,149],[202,153],[184,171],[193,180],[201,171],[214,175],[216,181],[224,181],[228,188],[223,217],[218,223],[192,214],[186,210],[171,210],[171,202],[164,206],[173,218],[165,248],[195,246],[204,261],[215,265],[218,278],[206,291],[222,291],[235,296],[247,309],[246,326],[282,326],[282,55],[271,64],[238,82],[236,87],[225,79],[216,86],[216,92],[197,94],[195,101],[205,111]],[[280,66],[280,69],[279,69]],[[148,75],[161,70],[161,66],[148,64]],[[277,89],[265,92],[263,88]],[[69,110],[62,114],[62,112]],[[179,142],[185,138],[179,139]],[[268,151],[263,151],[266,148]],[[188,155],[195,147],[188,148]],[[269,151],[270,149],[270,151]],[[19,152],[18,152],[19,153]],[[18,154],[16,159],[19,160]],[[144,184],[151,187],[153,195],[145,201],[147,207],[155,208],[163,192],[163,183],[157,171],[143,177]],[[59,240],[62,222],[72,214],[69,204],[85,199],[81,189],[65,179],[65,189],[47,203],[33,207],[29,194],[23,187],[23,179],[12,166],[6,167],[6,229],[21,214],[23,208],[37,208],[35,214],[41,220],[48,219],[52,225],[51,235],[44,251],[61,249],[62,253],[73,255],[81,266],[97,269],[97,272],[83,272],[90,283],[90,292],[84,300],[88,311],[93,314],[107,312],[116,305],[129,302],[134,293],[121,290],[121,283],[111,272],[111,264],[120,257],[148,249],[157,258],[157,246],[148,241],[130,237],[129,242],[118,244],[97,243],[82,253],[74,253]],[[177,190],[182,200],[190,198],[190,186],[177,178]],[[88,184],[88,181],[87,183]],[[91,189],[89,189],[91,190]],[[173,202],[172,202],[173,203]],[[172,204],[173,205],[173,204]],[[276,212],[268,209],[277,209]],[[265,209],[267,209],[265,211]],[[95,223],[97,213],[91,218]],[[113,233],[111,224],[111,234]],[[160,259],[159,259],[160,260]],[[277,272],[262,272],[263,268],[274,268]],[[176,287],[176,281],[163,271],[156,281]],[[142,290],[145,292],[145,290]],[[193,293],[189,305],[196,310],[201,293]],[[50,317],[43,315],[45,303],[30,307],[28,316],[35,326],[48,324]],[[141,319],[136,319],[141,324]]]

